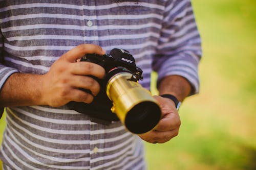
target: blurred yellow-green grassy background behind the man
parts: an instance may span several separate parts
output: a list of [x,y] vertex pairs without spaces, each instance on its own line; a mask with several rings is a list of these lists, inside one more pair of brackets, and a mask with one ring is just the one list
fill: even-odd
[[[148,169],[256,169],[256,1],[192,3],[203,47],[200,93],[182,104],[177,137],[145,143]],[[4,126],[2,118],[1,136]]]

